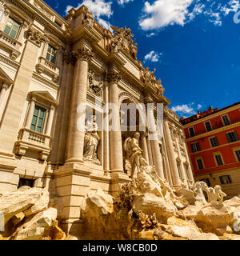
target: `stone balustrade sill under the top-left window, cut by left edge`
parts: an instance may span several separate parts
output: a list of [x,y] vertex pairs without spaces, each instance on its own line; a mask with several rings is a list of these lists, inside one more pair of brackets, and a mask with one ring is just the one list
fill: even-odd
[[9,35],[5,34],[3,31],[0,31],[0,45],[10,52],[10,58],[15,60],[20,56],[20,47],[22,46],[21,42],[11,38]]

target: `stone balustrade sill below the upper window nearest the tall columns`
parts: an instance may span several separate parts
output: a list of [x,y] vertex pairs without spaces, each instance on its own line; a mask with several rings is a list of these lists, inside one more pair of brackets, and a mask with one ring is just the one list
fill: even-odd
[[39,57],[38,64],[36,65],[36,71],[38,74],[45,72],[52,77],[53,82],[58,82],[60,68],[54,63],[48,61],[46,58]]

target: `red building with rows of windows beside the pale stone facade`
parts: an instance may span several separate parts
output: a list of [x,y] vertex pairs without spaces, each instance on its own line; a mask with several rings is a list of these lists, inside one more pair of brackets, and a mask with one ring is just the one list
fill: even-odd
[[240,102],[181,118],[196,181],[240,194]]

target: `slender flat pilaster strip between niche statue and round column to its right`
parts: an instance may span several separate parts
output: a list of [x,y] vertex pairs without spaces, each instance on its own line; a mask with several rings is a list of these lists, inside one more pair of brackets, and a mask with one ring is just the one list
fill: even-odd
[[110,170],[110,149],[109,149],[109,80],[107,74],[104,74],[103,84],[103,100],[106,103],[105,113],[103,113],[103,169],[105,171]]

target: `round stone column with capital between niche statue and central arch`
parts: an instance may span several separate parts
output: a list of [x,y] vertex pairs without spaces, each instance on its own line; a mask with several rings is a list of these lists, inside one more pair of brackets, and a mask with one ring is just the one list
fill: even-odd
[[111,120],[113,129],[110,130],[110,170],[111,172],[123,172],[122,132],[118,102],[118,82],[120,81],[121,77],[118,72],[111,70],[109,72],[109,79],[110,103],[112,104],[112,107],[114,107],[114,114],[112,115]]

